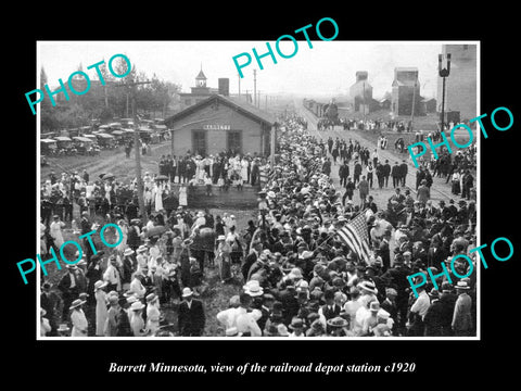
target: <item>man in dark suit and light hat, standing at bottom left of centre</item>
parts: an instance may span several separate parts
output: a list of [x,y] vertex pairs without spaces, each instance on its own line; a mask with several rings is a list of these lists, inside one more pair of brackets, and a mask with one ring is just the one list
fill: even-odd
[[201,337],[206,321],[203,303],[193,299],[193,292],[188,287],[182,290],[182,299],[178,310],[179,335]]

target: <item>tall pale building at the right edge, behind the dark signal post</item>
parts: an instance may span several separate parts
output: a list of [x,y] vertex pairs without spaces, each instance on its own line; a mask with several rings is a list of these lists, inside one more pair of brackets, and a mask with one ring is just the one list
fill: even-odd
[[[450,74],[445,78],[445,113],[453,122],[478,115],[478,46],[442,45],[445,61],[450,53]],[[443,78],[437,77],[437,112],[442,112]],[[445,121],[449,121],[445,117]]]

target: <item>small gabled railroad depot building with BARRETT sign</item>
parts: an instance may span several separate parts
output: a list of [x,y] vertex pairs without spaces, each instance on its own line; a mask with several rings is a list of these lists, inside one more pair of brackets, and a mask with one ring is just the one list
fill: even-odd
[[[226,93],[226,92],[225,92]],[[268,156],[276,118],[252,104],[214,93],[165,119],[176,156],[233,154]]]

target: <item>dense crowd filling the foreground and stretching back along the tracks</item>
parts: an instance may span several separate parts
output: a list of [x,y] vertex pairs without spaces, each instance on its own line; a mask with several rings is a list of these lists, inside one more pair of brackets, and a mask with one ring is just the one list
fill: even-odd
[[[113,252],[86,253],[85,262],[67,267],[58,290],[43,282],[41,333],[207,336],[209,299],[203,288],[205,270],[215,267],[221,283],[239,287],[216,315],[223,337],[475,335],[475,272],[440,276],[436,286],[418,288],[418,298],[407,280],[427,267],[436,275],[458,254],[475,265],[475,253],[469,254],[475,247],[475,202],[434,205],[425,178],[415,199],[408,189],[402,193],[402,177],[394,181],[391,169],[394,194],[386,204],[360,197],[354,205],[344,197],[351,176],[341,187],[331,178],[333,150],[342,165],[366,169],[358,188],[369,166],[389,162],[357,142],[319,140],[304,124],[296,115],[285,118],[276,165],[258,194],[258,215],[247,227],[237,227],[233,216],[183,205],[157,210],[145,225],[118,215],[125,240]],[[208,164],[200,164],[206,172]],[[378,185],[387,186],[385,176]],[[360,216],[369,256],[338,235]],[[84,212],[81,230],[91,223]],[[469,267],[462,258],[455,264],[460,276]],[[170,312],[177,321],[168,319]]]

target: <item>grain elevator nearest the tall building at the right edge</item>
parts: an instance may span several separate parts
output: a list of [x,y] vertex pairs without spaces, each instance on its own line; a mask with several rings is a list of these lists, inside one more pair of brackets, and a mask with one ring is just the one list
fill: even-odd
[[391,110],[395,115],[410,115],[412,112],[412,100],[415,100],[415,115],[421,115],[418,68],[394,68],[392,87]]

